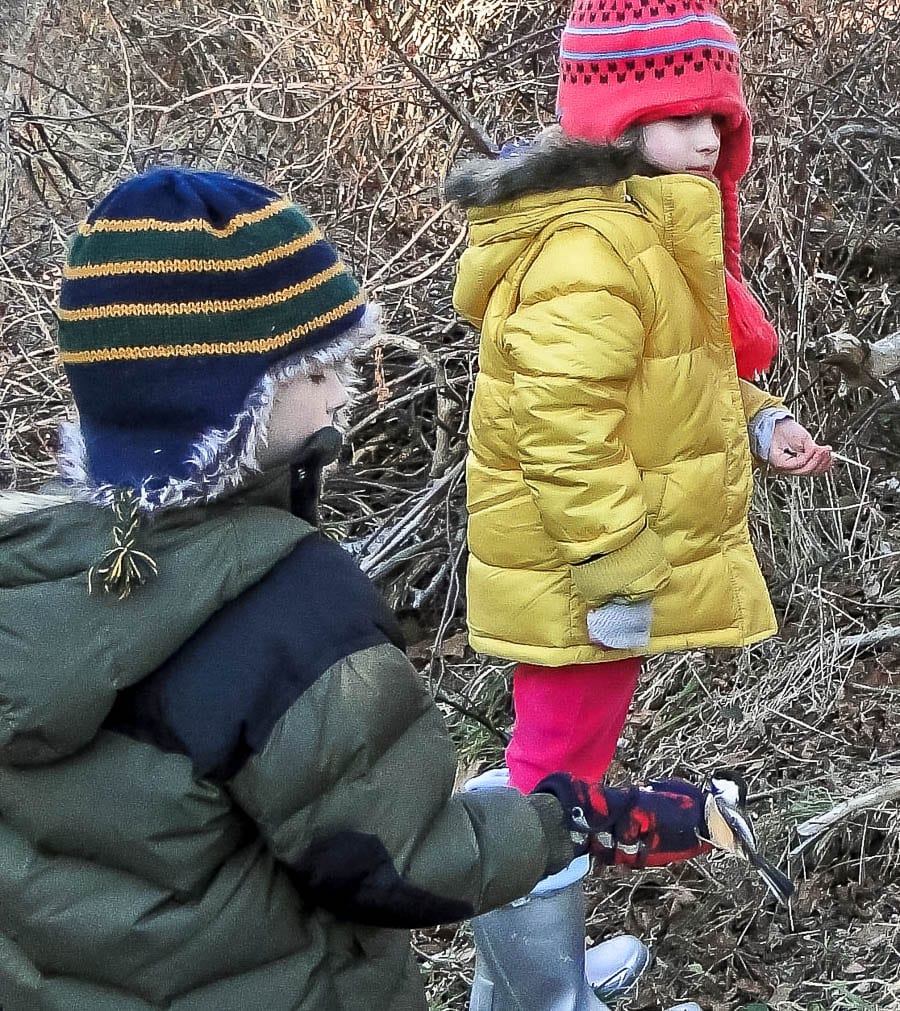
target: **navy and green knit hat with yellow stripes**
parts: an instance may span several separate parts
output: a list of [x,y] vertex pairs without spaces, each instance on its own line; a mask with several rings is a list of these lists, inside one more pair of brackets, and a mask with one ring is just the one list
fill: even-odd
[[335,249],[271,190],[179,168],[122,183],[79,225],[60,296],[90,482],[164,503],[154,489],[190,480],[264,374],[327,356],[364,311]]

